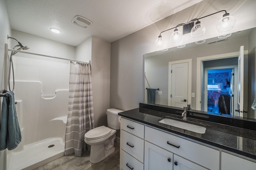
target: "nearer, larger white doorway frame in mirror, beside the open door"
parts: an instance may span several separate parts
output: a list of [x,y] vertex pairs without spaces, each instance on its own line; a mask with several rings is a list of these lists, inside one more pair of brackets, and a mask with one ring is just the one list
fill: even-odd
[[[248,50],[244,51],[244,55],[248,54]],[[238,57],[239,51],[233,53],[225,53],[219,55],[210,55],[206,57],[198,57],[196,59],[196,110],[201,110],[201,72],[202,72],[202,61],[210,61],[216,59],[225,59],[231,57]]]

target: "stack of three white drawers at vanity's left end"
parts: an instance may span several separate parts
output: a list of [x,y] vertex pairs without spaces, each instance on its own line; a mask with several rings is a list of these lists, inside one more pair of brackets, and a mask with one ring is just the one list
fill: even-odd
[[144,169],[144,125],[121,118],[120,169]]

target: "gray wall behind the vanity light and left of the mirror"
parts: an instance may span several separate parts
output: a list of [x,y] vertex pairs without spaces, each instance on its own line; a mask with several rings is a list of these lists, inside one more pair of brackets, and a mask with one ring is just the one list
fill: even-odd
[[[236,26],[232,31],[244,30],[256,26],[255,8],[254,0],[204,0],[111,43],[110,107],[128,110],[138,107],[139,102],[144,101],[143,55],[158,51],[154,41],[161,31],[223,9],[236,17]],[[163,37],[166,38],[164,48],[221,35],[216,31],[216,22],[214,22],[214,20],[218,21],[221,16],[222,14],[203,20],[207,30],[202,38],[192,39],[190,35],[184,35],[180,43],[172,44],[169,41],[169,34],[172,31],[163,33]],[[195,69],[193,68],[192,71],[194,72]],[[192,86],[192,91],[196,93],[195,89],[196,87]]]

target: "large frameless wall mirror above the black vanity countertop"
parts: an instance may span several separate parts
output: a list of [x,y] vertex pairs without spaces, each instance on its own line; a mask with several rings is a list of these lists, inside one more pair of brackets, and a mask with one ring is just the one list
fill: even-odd
[[252,28],[145,54],[144,103],[248,117],[255,46]]

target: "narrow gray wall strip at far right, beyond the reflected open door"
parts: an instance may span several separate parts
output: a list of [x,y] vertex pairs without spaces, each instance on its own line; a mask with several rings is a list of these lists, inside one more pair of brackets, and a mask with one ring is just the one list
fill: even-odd
[[248,117],[256,119],[256,110],[250,109],[256,93],[256,28],[249,35],[248,55]]

